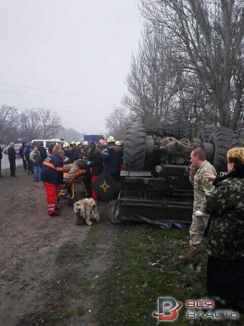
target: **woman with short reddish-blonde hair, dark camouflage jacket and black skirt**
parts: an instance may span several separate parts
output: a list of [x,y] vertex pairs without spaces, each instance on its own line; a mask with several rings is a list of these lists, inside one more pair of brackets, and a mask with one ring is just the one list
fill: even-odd
[[227,153],[228,174],[205,175],[215,191],[206,197],[204,208],[211,214],[207,236],[207,292],[217,307],[244,313],[244,148]]

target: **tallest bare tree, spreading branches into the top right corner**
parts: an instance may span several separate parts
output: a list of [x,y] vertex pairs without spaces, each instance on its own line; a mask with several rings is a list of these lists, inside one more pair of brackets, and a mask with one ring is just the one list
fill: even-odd
[[244,10],[240,0],[142,0],[141,10],[170,40],[182,70],[197,74],[221,126],[243,111]]

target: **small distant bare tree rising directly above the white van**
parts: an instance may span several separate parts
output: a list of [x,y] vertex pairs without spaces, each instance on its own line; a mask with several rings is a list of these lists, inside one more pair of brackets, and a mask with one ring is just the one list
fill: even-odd
[[45,108],[38,108],[40,123],[42,126],[42,139],[54,138],[54,135],[62,127],[60,118],[56,113]]

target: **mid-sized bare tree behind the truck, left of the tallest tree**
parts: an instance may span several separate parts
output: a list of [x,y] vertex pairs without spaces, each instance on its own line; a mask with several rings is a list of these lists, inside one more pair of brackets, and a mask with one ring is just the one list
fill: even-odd
[[170,119],[177,93],[177,74],[171,48],[161,29],[146,25],[137,55],[132,55],[131,72],[126,78],[130,95],[122,104],[148,126],[160,127]]

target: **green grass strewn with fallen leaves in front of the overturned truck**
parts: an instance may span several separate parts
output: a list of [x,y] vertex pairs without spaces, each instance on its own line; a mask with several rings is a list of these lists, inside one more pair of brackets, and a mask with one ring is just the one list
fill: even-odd
[[[185,303],[187,299],[204,295],[207,259],[207,255],[201,253],[198,264],[190,268],[190,263],[178,259],[188,251],[189,231],[132,225],[126,230],[121,226],[118,233],[113,264],[100,284],[98,325],[156,325],[158,319],[152,314],[157,311],[158,297],[173,297],[181,302],[183,308],[178,310],[178,318],[172,324],[188,325]],[[157,264],[152,266],[151,263]],[[232,323],[207,320],[197,324]]]

